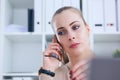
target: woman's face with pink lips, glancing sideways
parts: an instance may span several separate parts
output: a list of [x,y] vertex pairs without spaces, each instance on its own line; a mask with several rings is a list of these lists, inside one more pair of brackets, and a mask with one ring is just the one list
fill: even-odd
[[80,15],[71,10],[65,10],[54,17],[54,27],[58,38],[68,55],[78,55],[89,47],[89,27]]

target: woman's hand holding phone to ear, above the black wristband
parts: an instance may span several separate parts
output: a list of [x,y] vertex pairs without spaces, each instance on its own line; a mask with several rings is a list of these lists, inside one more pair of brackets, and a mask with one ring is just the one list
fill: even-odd
[[[52,39],[52,43],[43,52],[43,68],[50,71],[55,71],[59,67],[61,60],[61,46],[57,43],[56,37]],[[59,59],[51,57],[52,54],[56,54]]]

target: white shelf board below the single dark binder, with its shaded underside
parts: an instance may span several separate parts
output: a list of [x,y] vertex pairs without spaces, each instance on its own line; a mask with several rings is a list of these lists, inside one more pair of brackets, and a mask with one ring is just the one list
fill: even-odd
[[41,42],[42,34],[38,33],[5,33],[5,37],[12,42]]

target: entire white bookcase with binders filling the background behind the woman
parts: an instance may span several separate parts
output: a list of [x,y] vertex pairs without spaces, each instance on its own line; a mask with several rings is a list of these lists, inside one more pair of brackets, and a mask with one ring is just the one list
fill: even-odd
[[[115,22],[114,31],[105,30],[107,19],[104,0],[0,0],[0,80],[16,77],[19,80],[28,80],[26,77],[38,80],[37,71],[42,65],[42,52],[54,34],[51,17],[62,6],[82,8],[84,18],[91,28],[92,50],[96,56],[112,57],[113,52],[120,48],[120,1],[105,1],[117,1],[114,2],[117,5],[114,6],[113,19],[110,18],[112,24]],[[96,4],[96,7],[92,4]],[[34,9],[34,32],[6,32],[10,24],[28,27],[28,9]]]

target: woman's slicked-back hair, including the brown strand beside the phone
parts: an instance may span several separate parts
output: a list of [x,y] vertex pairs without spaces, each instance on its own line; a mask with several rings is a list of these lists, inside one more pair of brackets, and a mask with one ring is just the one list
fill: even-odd
[[[62,13],[63,11],[66,11],[66,10],[71,10],[71,11],[79,14],[80,17],[82,18],[84,24],[87,25],[86,22],[85,22],[85,20],[84,20],[84,18],[83,18],[82,12],[81,12],[79,9],[74,8],[74,7],[71,7],[71,6],[64,6],[64,7],[61,7],[60,9],[58,9],[58,10],[54,13],[54,15],[53,15],[53,17],[52,17],[52,28],[53,28],[54,31],[55,31],[55,29],[54,29],[54,26],[53,26],[53,22],[54,22],[55,16],[58,15],[58,14],[60,14],[60,13]],[[64,52],[63,52],[62,54],[63,54],[63,56],[62,56],[63,63],[64,63],[64,64],[68,63],[68,62],[69,62],[69,59],[68,59],[68,56],[67,56],[65,50],[64,50]]]

